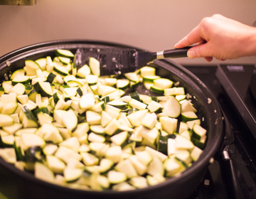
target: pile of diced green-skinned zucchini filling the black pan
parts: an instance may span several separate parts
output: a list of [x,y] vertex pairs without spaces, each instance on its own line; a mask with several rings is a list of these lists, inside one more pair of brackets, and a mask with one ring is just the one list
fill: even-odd
[[[26,60],[0,87],[0,156],[50,183],[134,190],[178,176],[197,161],[206,129],[183,87],[145,66],[100,76],[90,58]],[[151,96],[138,92],[144,85]],[[176,86],[175,86],[176,85]]]

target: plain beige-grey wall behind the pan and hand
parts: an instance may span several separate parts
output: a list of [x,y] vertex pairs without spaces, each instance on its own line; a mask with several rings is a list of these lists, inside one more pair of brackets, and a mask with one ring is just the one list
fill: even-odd
[[[33,43],[70,38],[164,50],[216,13],[252,26],[255,8],[254,0],[37,0],[36,6],[0,6],[0,56]],[[176,61],[206,63],[203,58]],[[255,63],[255,57],[225,62]]]

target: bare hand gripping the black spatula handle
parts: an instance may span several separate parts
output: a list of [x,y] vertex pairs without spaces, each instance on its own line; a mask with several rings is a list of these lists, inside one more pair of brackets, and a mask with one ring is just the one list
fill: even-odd
[[196,28],[178,41],[174,48],[195,45],[188,50],[188,58],[207,61],[235,59],[256,55],[256,28],[220,14],[203,18]]

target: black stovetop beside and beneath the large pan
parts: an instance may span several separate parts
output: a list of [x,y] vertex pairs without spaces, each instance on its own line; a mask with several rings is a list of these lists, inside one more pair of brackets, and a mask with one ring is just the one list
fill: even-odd
[[[242,195],[250,199],[256,198],[256,130],[253,129],[256,124],[252,123],[256,100],[248,88],[254,66],[233,66],[235,65],[186,65],[185,68],[210,89],[228,118],[234,135],[234,142],[230,144],[228,153],[233,161]],[[228,189],[227,180],[221,175],[219,162],[215,161],[208,167],[205,180],[189,199],[230,198],[229,193],[232,191]]]

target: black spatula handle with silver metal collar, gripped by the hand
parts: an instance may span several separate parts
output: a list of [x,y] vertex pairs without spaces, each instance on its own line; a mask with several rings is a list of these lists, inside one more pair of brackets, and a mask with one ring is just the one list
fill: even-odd
[[184,58],[187,57],[188,50],[193,46],[188,46],[185,48],[176,48],[171,50],[164,50],[156,53],[156,59],[164,58]]

